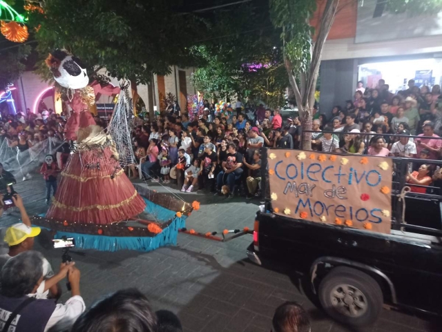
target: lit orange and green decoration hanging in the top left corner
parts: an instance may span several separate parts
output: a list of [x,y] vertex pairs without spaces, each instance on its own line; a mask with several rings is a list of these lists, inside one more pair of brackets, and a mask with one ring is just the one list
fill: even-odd
[[28,27],[24,24],[23,15],[3,0],[0,0],[0,32],[6,39],[23,43],[29,37]]

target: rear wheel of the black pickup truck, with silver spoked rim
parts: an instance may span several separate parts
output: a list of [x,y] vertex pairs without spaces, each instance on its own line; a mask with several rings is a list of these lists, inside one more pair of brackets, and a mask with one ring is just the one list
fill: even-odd
[[333,268],[324,277],[318,297],[328,315],[353,326],[376,322],[383,306],[383,293],[376,280],[347,266]]

